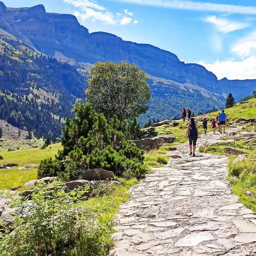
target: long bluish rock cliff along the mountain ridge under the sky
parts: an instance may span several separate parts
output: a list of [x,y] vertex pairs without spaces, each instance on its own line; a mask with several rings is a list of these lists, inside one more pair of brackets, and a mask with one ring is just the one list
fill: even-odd
[[[191,83],[211,92],[233,92],[230,83],[198,64],[185,64],[171,52],[147,44],[123,41],[104,32],[89,33],[76,17],[45,12],[43,5],[31,8],[6,8],[0,2],[0,28],[13,34],[42,53],[54,56],[59,52],[78,62],[128,61],[148,74],[178,83]],[[254,82],[253,82],[254,83]],[[234,96],[251,94],[251,83],[240,81]]]

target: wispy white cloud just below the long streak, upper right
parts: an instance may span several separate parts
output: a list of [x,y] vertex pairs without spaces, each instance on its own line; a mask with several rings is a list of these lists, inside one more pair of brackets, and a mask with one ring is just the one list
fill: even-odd
[[218,18],[214,15],[205,17],[203,20],[205,22],[214,24],[216,29],[222,33],[229,33],[251,26],[249,23],[232,21],[226,18]]

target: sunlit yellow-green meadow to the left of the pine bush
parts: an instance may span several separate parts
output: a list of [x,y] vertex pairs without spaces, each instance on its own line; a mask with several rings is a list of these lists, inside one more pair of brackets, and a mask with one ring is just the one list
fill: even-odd
[[[1,155],[4,159],[0,160],[0,165],[15,163],[18,167],[24,167],[27,164],[39,164],[42,159],[53,157],[59,149],[62,149],[61,143],[50,145],[45,149],[30,148],[2,152]],[[0,189],[22,186],[29,180],[37,179],[37,168],[19,170],[18,167],[0,170]]]

